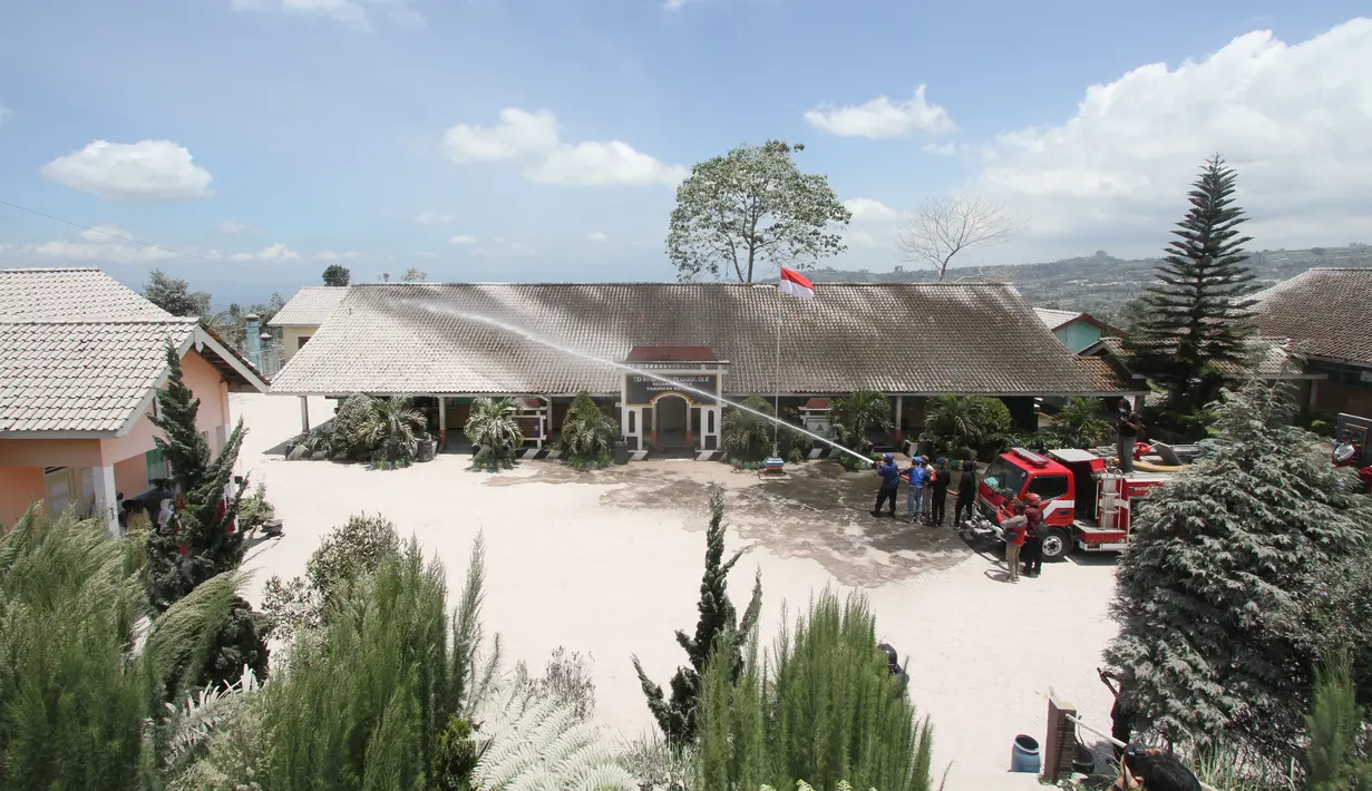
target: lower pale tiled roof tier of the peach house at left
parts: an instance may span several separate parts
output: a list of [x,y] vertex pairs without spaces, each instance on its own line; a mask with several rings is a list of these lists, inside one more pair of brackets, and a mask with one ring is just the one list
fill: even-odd
[[196,324],[0,321],[0,432],[121,429]]

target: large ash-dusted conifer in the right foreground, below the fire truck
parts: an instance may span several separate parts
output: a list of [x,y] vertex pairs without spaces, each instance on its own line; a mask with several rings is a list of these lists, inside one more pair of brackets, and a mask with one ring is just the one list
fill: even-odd
[[1142,731],[1299,754],[1310,668],[1328,650],[1310,591],[1367,539],[1372,500],[1294,411],[1286,385],[1225,392],[1216,452],[1135,517],[1106,661]]

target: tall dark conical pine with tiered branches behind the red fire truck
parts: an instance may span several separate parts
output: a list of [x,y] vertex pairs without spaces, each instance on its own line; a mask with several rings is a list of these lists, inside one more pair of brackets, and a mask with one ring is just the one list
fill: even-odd
[[[1173,407],[1185,403],[1192,381],[1214,363],[1247,359],[1253,300],[1244,295],[1253,274],[1243,245],[1251,237],[1239,236],[1247,218],[1233,204],[1236,180],[1218,154],[1206,162],[1190,193],[1191,211],[1172,232],[1177,239],[1168,244],[1143,296],[1143,318],[1129,343],[1139,370],[1168,387]],[[1196,404],[1213,396],[1214,384],[1207,377]]]

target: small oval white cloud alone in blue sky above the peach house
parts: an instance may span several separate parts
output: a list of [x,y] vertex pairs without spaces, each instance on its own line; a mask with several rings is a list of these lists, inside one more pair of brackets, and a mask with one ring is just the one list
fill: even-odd
[[191,152],[170,140],[132,144],[96,140],[81,151],[54,159],[38,173],[108,200],[167,202],[214,195],[210,171],[195,165]]

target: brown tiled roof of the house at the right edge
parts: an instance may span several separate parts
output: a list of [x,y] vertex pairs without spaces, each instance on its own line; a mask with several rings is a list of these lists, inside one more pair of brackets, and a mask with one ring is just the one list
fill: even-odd
[[1262,334],[1308,356],[1372,365],[1372,269],[1316,267],[1254,297]]

